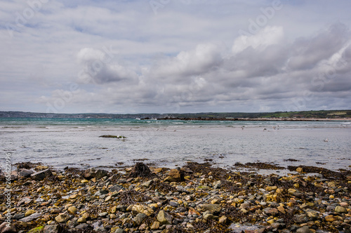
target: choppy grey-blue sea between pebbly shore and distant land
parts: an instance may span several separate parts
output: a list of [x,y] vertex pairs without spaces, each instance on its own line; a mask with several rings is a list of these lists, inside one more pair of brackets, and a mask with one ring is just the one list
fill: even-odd
[[[125,138],[101,138],[119,135]],[[350,169],[350,121],[180,121],[0,118],[1,168],[40,162],[53,168],[123,168],[142,161],[175,168],[188,161]],[[286,171],[277,171],[286,172]]]

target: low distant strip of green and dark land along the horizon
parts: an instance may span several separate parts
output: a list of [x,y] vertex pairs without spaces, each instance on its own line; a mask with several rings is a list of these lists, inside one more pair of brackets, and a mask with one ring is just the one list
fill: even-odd
[[41,113],[5,112],[0,118],[67,118],[67,119],[159,119],[199,121],[351,121],[351,110],[321,110],[300,112],[199,112],[199,113]]

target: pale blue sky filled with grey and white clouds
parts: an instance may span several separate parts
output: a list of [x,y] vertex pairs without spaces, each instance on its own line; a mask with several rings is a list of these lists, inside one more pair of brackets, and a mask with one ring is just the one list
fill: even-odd
[[2,0],[0,111],[351,109],[349,0]]

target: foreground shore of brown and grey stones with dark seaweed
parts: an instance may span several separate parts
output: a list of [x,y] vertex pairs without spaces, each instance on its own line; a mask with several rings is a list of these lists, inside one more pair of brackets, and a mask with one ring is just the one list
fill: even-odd
[[11,208],[0,175],[0,233],[350,232],[351,172],[290,170],[280,176],[208,163],[112,171],[17,164]]

